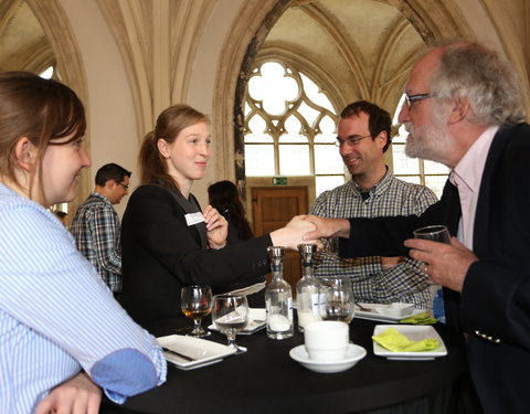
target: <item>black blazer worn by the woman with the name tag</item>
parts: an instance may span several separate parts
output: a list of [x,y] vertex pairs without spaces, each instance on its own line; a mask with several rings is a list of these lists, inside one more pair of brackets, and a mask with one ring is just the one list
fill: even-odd
[[121,222],[121,305],[140,325],[182,315],[187,285],[226,285],[268,272],[269,235],[234,247],[203,250],[199,232],[170,190],[141,185]]

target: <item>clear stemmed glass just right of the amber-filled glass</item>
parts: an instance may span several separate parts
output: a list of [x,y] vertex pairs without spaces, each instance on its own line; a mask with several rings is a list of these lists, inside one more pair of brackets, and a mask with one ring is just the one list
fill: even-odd
[[248,302],[245,295],[215,295],[213,297],[213,323],[226,336],[229,347],[235,353],[246,352],[246,348],[235,343],[237,332],[245,329],[248,322]]

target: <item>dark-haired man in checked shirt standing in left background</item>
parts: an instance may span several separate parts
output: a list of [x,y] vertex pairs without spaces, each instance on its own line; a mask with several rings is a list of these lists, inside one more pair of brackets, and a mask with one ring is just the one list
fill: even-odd
[[77,250],[96,267],[116,298],[121,291],[121,243],[113,204],[129,193],[130,174],[117,163],[99,168],[96,187],[77,209],[71,226]]

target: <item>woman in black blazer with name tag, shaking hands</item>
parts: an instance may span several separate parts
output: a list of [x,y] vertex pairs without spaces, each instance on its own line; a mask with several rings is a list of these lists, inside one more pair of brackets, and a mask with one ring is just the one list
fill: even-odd
[[121,304],[147,328],[183,317],[182,286],[215,289],[252,280],[268,272],[267,246],[295,250],[307,226],[315,229],[294,217],[271,234],[225,247],[226,220],[211,205],[201,210],[191,193],[211,155],[209,125],[209,118],[190,106],[171,106],[140,148],[141,185],[130,197],[121,223]]

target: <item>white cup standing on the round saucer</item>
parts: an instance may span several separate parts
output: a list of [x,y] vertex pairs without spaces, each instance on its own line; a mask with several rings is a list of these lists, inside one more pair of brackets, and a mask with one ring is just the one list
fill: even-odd
[[348,323],[322,320],[304,327],[304,339],[309,358],[318,362],[338,362],[344,359],[350,343]]

